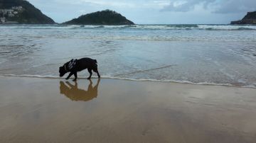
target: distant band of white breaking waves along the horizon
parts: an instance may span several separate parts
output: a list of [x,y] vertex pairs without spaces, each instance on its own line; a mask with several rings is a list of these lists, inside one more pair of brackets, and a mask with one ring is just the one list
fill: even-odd
[[1,25],[27,29],[256,30],[255,25]]

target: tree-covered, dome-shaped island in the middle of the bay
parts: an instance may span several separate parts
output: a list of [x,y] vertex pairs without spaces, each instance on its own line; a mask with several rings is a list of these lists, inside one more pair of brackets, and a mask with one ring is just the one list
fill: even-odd
[[134,25],[132,21],[122,16],[120,13],[111,11],[97,11],[88,13],[63,24],[67,25]]

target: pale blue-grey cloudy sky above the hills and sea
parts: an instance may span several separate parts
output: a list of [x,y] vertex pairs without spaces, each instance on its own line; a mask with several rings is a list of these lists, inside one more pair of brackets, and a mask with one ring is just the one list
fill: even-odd
[[256,11],[256,0],[28,0],[55,22],[111,9],[137,24],[227,24]]

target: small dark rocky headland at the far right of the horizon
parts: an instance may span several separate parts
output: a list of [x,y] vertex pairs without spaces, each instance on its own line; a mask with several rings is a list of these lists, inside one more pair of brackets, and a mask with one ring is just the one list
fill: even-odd
[[248,12],[240,21],[232,21],[230,24],[252,24],[256,25],[256,11]]

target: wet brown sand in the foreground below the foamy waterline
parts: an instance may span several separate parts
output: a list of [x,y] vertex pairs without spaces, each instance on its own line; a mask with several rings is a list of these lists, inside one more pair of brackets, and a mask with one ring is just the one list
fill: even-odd
[[0,142],[256,142],[255,88],[0,77]]

